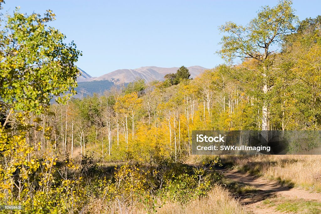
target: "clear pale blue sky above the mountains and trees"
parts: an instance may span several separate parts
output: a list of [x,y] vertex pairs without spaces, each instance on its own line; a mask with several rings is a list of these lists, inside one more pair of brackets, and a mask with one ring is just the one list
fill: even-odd
[[[56,14],[50,25],[74,40],[82,56],[77,66],[92,76],[142,66],[213,68],[223,63],[218,26],[246,24],[263,5],[277,0],[5,0],[2,13]],[[294,0],[299,19],[321,15],[321,1]]]

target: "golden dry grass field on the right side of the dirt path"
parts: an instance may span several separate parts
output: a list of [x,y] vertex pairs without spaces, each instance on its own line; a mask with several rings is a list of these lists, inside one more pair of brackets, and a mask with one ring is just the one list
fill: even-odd
[[321,155],[223,156],[239,170],[321,192]]

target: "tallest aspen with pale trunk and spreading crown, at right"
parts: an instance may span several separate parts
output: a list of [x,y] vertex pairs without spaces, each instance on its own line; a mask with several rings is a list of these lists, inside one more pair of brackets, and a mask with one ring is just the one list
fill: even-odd
[[258,61],[263,91],[262,130],[269,129],[267,94],[270,88],[267,74],[270,56],[274,52],[271,46],[295,31],[293,24],[297,17],[291,4],[289,0],[282,0],[275,7],[265,6],[245,27],[233,22],[226,22],[220,27],[221,32],[227,33],[222,38],[222,49],[219,51],[222,58],[230,61],[241,57]]

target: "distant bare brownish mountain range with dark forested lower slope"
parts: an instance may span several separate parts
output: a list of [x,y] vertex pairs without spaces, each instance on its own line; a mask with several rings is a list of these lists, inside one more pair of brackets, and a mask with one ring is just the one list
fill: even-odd
[[[168,73],[176,73],[178,67],[161,68],[156,66],[146,66],[136,69],[118,69],[116,71],[106,73],[99,77],[92,77],[82,69],[78,68],[81,76],[77,77],[78,87],[76,88],[77,95],[74,97],[80,98],[83,95],[92,95],[93,93],[103,93],[109,90],[113,85],[128,84],[137,79],[143,79],[146,83],[151,81],[163,81],[164,76]],[[203,73],[202,66],[187,67],[191,74],[191,78],[195,78],[200,73]]]

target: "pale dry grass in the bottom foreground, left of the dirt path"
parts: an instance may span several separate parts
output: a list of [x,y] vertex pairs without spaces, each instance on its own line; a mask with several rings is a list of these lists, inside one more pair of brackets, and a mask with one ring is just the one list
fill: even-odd
[[[159,204],[161,202],[159,201]],[[239,201],[235,200],[223,187],[216,185],[208,193],[207,197],[189,201],[186,204],[167,201],[157,208],[160,214],[246,214],[246,210]],[[132,206],[125,206],[121,201],[104,202],[101,199],[92,201],[85,211],[89,213],[152,213],[146,211],[145,206],[137,203]]]

